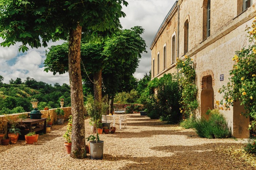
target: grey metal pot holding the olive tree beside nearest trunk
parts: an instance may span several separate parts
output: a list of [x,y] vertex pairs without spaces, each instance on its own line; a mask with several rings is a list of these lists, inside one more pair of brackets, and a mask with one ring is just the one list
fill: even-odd
[[103,159],[103,141],[90,141],[91,159]]

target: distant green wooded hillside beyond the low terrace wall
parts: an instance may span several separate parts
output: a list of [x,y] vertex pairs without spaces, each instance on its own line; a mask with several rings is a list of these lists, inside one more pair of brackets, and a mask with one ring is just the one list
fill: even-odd
[[[18,78],[17,78],[18,79]],[[27,78],[25,82],[14,84],[0,83],[0,114],[10,114],[33,110],[31,99],[38,100],[38,108],[44,109],[60,107],[60,98],[64,98],[64,107],[71,106],[70,87],[68,84],[54,86],[44,82],[37,82],[33,78]]]

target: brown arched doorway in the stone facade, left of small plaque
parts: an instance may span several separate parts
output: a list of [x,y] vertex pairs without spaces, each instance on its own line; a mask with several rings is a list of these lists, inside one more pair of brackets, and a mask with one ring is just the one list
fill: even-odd
[[207,110],[214,108],[214,90],[212,88],[212,76],[207,75],[202,78],[201,91],[201,117],[208,119]]

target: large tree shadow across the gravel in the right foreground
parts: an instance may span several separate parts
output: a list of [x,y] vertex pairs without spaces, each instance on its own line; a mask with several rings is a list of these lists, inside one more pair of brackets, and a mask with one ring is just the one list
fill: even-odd
[[[132,161],[120,169],[200,169],[200,170],[226,170],[226,169],[255,169],[248,163],[242,160],[235,160],[225,153],[219,152],[217,149],[222,147],[228,148],[230,143],[210,143],[196,146],[159,146],[153,147],[158,151],[174,152],[170,157],[131,157],[131,156],[117,156],[104,154],[106,161]],[[237,145],[239,146],[239,145]],[[199,152],[198,150],[202,150]],[[129,153],[128,153],[129,154]]]

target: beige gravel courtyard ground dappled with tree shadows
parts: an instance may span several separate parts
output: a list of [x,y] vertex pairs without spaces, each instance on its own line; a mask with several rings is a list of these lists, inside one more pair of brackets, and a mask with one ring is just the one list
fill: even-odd
[[[89,136],[89,119],[85,122]],[[244,145],[241,141],[200,138],[191,129],[139,114],[128,114],[127,125],[117,128],[115,134],[100,135],[103,160],[91,160],[89,154],[82,160],[71,158],[64,149],[65,125],[54,125],[51,133],[40,135],[34,145],[25,141],[0,145],[0,169],[255,169],[225,154],[231,146]]]

